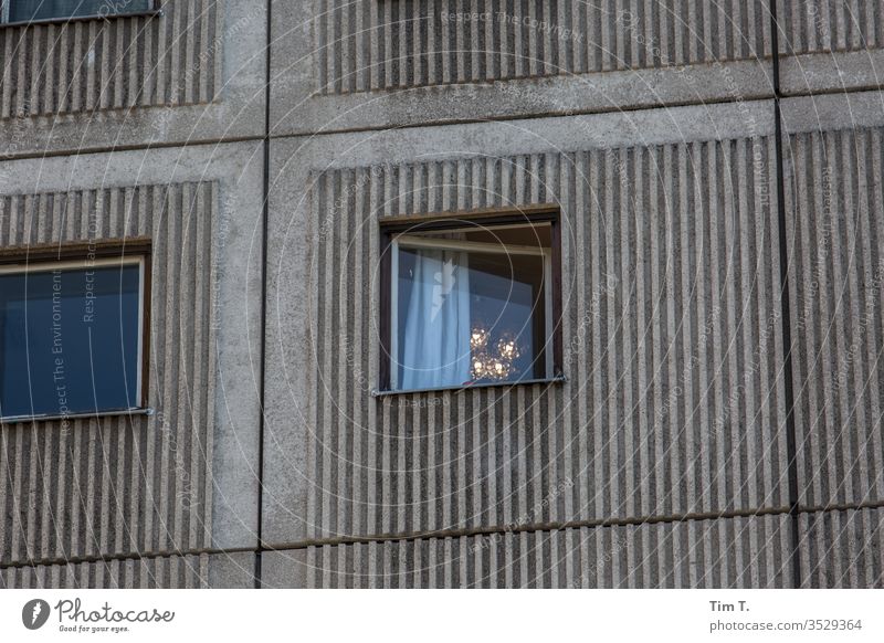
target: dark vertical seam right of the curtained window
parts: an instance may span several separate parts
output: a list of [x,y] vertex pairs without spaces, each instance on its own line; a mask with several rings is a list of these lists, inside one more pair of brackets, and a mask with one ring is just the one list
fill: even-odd
[[792,540],[792,582],[794,588],[801,587],[801,557],[799,555],[799,515],[798,515],[798,447],[794,426],[794,388],[792,382],[792,327],[789,301],[789,256],[786,223],[786,179],[782,152],[782,110],[780,99],[780,48],[779,20],[777,3],[770,2],[770,34],[774,54],[774,124],[777,149],[777,219],[779,229],[779,265],[780,265],[780,305],[782,317],[783,347],[783,384],[786,388],[786,453],[789,474],[789,516]]

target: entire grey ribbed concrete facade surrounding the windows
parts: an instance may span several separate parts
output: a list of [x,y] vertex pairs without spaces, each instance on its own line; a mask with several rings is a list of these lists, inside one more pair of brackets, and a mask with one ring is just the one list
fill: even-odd
[[[0,245],[151,236],[156,411],[0,428],[0,583],[884,587],[884,13],[771,2],[0,27]],[[379,223],[535,204],[565,381],[372,396]]]

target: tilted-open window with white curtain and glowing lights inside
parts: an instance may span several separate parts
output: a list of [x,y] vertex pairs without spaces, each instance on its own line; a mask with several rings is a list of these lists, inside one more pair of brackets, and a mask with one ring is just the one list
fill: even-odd
[[391,221],[382,232],[382,390],[558,377],[555,212]]

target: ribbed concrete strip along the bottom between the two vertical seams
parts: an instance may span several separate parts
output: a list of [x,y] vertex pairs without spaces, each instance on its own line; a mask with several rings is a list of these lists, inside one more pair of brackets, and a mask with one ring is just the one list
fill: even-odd
[[788,518],[759,516],[308,547],[266,587],[783,588]]

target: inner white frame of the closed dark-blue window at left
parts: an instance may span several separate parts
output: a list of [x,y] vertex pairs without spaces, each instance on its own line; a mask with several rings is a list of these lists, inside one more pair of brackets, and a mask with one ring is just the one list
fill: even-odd
[[36,414],[36,415],[2,415],[0,423],[10,424],[15,422],[25,422],[33,420],[60,420],[60,419],[76,419],[76,418],[96,418],[108,415],[129,415],[136,413],[147,413],[149,409],[141,405],[144,400],[144,350],[145,350],[145,271],[147,261],[144,255],[130,256],[112,256],[101,257],[91,261],[35,261],[27,264],[8,264],[0,265],[0,275],[15,275],[15,274],[33,274],[33,273],[51,273],[55,271],[88,271],[102,267],[123,267],[127,265],[138,266],[138,363],[136,365],[136,394],[135,399],[138,400],[138,405],[128,409],[117,409],[113,411],[91,411],[87,413],[70,413],[70,414]]

